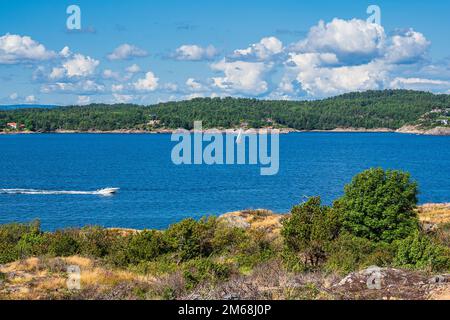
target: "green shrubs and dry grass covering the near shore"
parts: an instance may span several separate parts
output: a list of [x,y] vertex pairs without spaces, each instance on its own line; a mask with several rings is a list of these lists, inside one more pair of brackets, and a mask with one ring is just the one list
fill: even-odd
[[[424,279],[450,271],[450,224],[424,230],[417,192],[406,173],[370,169],[332,206],[319,197],[295,206],[282,219],[281,232],[263,224],[251,228],[239,216],[187,219],[165,231],[86,227],[50,233],[39,222],[2,225],[0,298],[29,298],[5,286],[17,291],[14,281],[24,281],[32,270],[32,286],[41,288],[32,298],[370,298],[349,297],[340,287],[333,291],[326,279],[373,265],[411,270]],[[249,215],[270,218],[265,211]],[[81,291],[65,289],[71,264],[82,268]],[[22,280],[8,280],[12,270],[22,272]],[[51,284],[39,284],[55,274]],[[414,291],[402,287],[407,275],[392,297],[411,297]]]

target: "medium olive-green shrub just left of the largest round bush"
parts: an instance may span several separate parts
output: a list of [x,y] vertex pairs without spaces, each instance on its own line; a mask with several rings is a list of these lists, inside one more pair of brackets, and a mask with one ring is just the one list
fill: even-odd
[[304,264],[317,266],[326,257],[327,247],[339,234],[335,211],[322,206],[320,197],[295,206],[290,219],[283,223],[281,234],[289,251],[301,253]]

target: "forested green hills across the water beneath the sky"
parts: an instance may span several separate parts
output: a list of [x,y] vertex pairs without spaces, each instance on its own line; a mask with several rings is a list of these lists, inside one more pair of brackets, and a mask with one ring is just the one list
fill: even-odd
[[204,98],[148,107],[92,104],[0,111],[0,130],[8,131],[8,123],[17,123],[33,132],[154,131],[192,129],[199,120],[204,128],[399,129],[407,124],[432,128],[448,125],[449,105],[450,95],[407,90],[349,93],[320,101]]

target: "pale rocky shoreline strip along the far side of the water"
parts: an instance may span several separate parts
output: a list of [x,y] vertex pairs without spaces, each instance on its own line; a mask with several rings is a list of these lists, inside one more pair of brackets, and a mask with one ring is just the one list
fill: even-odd
[[[248,128],[245,131],[255,131],[257,133],[267,132],[267,130],[274,130],[276,128],[259,128],[253,129]],[[239,132],[240,128],[230,128],[230,129],[208,129],[202,130],[203,133],[227,133],[227,132]],[[281,128],[277,129],[280,131],[280,134],[289,134],[289,133],[308,133],[308,132],[330,132],[330,133],[402,133],[402,134],[415,134],[415,135],[432,135],[432,136],[450,136],[450,128],[448,127],[436,127],[429,130],[419,129],[414,126],[404,126],[398,130],[389,129],[389,128],[374,128],[374,129],[366,129],[366,128],[335,128],[331,130],[297,130],[292,128]],[[80,130],[55,130],[55,131],[45,131],[45,132],[36,132],[36,131],[17,131],[17,132],[4,132],[0,131],[0,135],[25,135],[25,134],[173,134],[180,133],[186,131],[186,129],[159,129],[154,131],[148,130],[138,130],[138,129],[120,129],[120,130],[106,130],[106,131],[98,131],[98,130],[88,130],[88,131],[80,131]],[[188,130],[191,133],[194,133],[194,130]]]

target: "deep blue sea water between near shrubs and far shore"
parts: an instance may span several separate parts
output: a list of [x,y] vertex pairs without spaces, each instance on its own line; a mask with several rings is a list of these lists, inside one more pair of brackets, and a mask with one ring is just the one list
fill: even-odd
[[[274,176],[261,176],[260,167],[251,165],[176,166],[175,144],[170,135],[0,136],[0,224],[40,219],[46,230],[162,229],[187,217],[241,209],[284,213],[308,196],[331,204],[355,174],[370,167],[409,171],[419,183],[421,203],[450,201],[450,137],[281,135]],[[120,192],[95,194],[106,187]],[[5,192],[12,189],[37,194]]]

